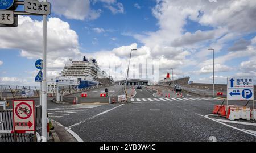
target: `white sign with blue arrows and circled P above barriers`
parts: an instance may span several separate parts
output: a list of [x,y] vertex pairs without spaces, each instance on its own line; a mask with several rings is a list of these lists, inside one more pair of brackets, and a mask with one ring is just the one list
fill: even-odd
[[253,78],[229,77],[227,88],[228,100],[254,100]]

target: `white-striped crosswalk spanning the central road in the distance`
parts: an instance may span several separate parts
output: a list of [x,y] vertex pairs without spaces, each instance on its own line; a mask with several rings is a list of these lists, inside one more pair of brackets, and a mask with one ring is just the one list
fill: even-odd
[[202,100],[207,100],[207,101],[217,101],[220,100],[218,98],[211,98],[211,97],[193,97],[193,98],[188,98],[188,97],[175,97],[175,98],[131,98],[131,102],[138,102],[138,101],[202,101]]

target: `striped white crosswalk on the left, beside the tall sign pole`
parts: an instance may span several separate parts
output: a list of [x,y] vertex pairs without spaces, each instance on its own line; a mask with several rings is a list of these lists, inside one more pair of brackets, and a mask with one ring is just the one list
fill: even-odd
[[87,105],[87,104],[77,104],[68,106],[59,106],[54,109],[47,109],[47,113],[50,118],[62,118],[71,114],[76,114],[78,112],[93,109],[95,107],[102,106],[101,104]]

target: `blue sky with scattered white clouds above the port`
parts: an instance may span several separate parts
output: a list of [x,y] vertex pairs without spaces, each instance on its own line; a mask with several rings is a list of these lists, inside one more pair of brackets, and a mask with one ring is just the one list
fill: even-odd
[[[48,73],[59,74],[69,58],[95,57],[102,67],[133,59],[160,59],[160,79],[174,77],[216,82],[226,77],[256,77],[255,1],[50,1]],[[235,4],[236,3],[236,4]],[[19,7],[18,10],[22,10]],[[16,28],[0,27],[0,84],[37,85],[34,63],[40,59],[42,17],[19,16]],[[113,73],[113,72],[111,72]],[[122,79],[117,75],[115,80]]]

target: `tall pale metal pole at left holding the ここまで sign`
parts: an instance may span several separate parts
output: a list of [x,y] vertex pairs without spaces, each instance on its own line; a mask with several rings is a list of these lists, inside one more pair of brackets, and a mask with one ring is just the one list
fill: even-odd
[[[47,2],[47,0],[44,0]],[[42,138],[47,141],[47,93],[46,93],[46,48],[47,47],[47,15],[43,15],[43,81],[42,81]]]

